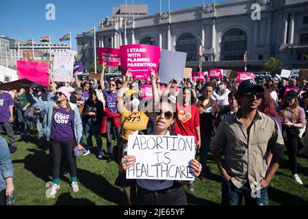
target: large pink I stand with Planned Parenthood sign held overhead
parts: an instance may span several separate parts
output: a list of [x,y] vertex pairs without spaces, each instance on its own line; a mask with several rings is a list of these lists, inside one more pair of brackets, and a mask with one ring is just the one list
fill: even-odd
[[[125,75],[128,68],[131,74],[146,79],[151,70],[157,72],[160,57],[160,48],[146,44],[133,44],[120,47],[120,60],[122,74]],[[146,75],[146,77],[144,77]]]

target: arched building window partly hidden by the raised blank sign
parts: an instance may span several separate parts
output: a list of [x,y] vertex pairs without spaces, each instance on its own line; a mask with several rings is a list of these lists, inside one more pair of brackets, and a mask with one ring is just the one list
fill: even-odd
[[192,34],[182,34],[177,40],[177,51],[187,53],[186,61],[197,61],[197,40]]

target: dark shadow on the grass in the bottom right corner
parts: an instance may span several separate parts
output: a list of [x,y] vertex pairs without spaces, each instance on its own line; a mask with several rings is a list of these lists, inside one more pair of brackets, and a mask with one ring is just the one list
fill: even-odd
[[280,205],[308,205],[307,200],[272,187],[268,187],[268,198]]

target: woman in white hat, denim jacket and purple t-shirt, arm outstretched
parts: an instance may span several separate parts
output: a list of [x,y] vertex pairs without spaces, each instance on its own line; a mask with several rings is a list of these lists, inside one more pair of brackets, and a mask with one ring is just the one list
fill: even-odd
[[70,92],[73,88],[62,87],[55,93],[56,102],[39,101],[32,95],[31,103],[35,109],[44,110],[47,114],[47,123],[44,134],[51,143],[49,147],[52,160],[53,185],[49,196],[54,196],[57,190],[60,190],[60,164],[62,153],[66,159],[66,166],[70,173],[71,186],[73,192],[78,192],[77,184],[77,164],[73,157],[73,149],[78,147],[79,151],[83,149],[79,144],[82,135],[82,124],[80,113],[77,106],[70,103]]

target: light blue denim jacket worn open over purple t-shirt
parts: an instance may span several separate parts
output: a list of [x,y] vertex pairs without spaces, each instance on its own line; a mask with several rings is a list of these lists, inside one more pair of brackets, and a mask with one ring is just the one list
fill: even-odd
[[[53,107],[55,107],[55,101],[39,101],[32,95],[30,103],[34,109],[44,110],[46,113],[47,120],[46,127],[44,128],[44,135],[46,136],[47,140],[50,140],[51,128],[53,127],[53,117],[55,115],[55,111],[53,110]],[[73,114],[72,122],[75,139],[76,142],[80,142],[82,137],[82,123],[80,113],[77,105],[74,103],[70,103],[70,109],[72,109]]]

